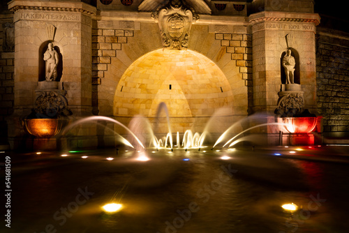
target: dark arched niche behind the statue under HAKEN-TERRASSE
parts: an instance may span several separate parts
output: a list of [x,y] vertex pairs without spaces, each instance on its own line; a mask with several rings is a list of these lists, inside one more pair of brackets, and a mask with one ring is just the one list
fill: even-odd
[[42,43],[39,47],[39,70],[38,70],[38,81],[45,81],[45,61],[43,59],[44,54],[47,50],[48,44],[52,43],[54,46],[54,50],[57,51],[58,57],[59,57],[59,63],[57,65],[57,79],[56,81],[61,81],[62,73],[63,73],[63,56],[61,54],[61,49],[59,48],[58,44],[54,40],[46,40],[44,43]]

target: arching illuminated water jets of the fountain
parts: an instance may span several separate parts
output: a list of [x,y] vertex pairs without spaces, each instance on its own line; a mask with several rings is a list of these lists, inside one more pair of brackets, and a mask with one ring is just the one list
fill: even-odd
[[[165,117],[162,119],[166,120],[166,128],[168,128],[168,133],[160,137],[156,134],[156,131],[159,127],[159,122],[161,120],[161,112],[165,114]],[[200,149],[209,146],[210,142],[207,142],[207,138],[212,137],[210,135],[209,128],[214,126],[214,123],[218,117],[221,117],[221,114],[224,114],[225,110],[218,110],[205,125],[205,129],[202,133],[195,132],[191,129],[186,130],[183,134],[179,132],[172,135],[171,125],[170,125],[170,116],[168,113],[168,107],[165,103],[160,103],[156,112],[156,117],[154,123],[151,123],[149,119],[137,115],[131,119],[128,127],[124,126],[123,123],[112,119],[110,117],[94,116],[80,119],[74,123],[70,123],[69,126],[64,128],[61,133],[61,137],[69,137],[68,132],[73,128],[80,126],[82,123],[91,123],[91,121],[105,121],[113,123],[116,126],[121,126],[122,129],[126,130],[127,135],[120,135],[117,133],[117,130],[112,128],[107,128],[112,131],[114,140],[117,142],[117,153],[119,151],[119,146],[128,146],[134,149],[137,152],[138,160],[148,160],[147,149],[159,150],[171,150],[174,149]],[[267,140],[266,134],[261,134],[260,129],[263,128],[272,128],[272,130],[288,129],[290,130],[290,123],[288,121],[279,121],[279,122],[269,122],[263,123],[270,118],[270,114],[253,114],[251,116],[235,121],[228,129],[221,133],[218,138],[214,139],[214,144],[211,146],[212,149],[216,148],[218,145],[221,145],[221,148],[229,149],[233,146],[241,145],[262,145],[265,140]],[[283,119],[285,120],[285,119]],[[308,123],[308,121],[306,122]],[[308,130],[313,130],[315,123],[306,124]],[[297,129],[298,130],[298,129]],[[163,131],[163,130],[162,130]],[[310,131],[309,131],[310,132]],[[297,131],[298,133],[298,131]],[[174,142],[173,139],[176,139]],[[118,144],[121,143],[121,144]]]

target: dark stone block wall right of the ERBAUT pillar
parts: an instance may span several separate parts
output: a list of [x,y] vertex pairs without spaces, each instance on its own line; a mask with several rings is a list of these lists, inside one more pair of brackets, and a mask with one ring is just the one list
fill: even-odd
[[325,137],[349,137],[349,34],[319,28],[316,48],[323,133]]

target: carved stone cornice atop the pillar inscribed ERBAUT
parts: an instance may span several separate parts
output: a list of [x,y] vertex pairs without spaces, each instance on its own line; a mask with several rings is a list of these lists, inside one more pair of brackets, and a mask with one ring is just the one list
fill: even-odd
[[265,21],[274,22],[309,22],[318,26],[320,24],[320,16],[315,13],[285,13],[274,11],[263,11],[255,13],[248,17],[251,24]]

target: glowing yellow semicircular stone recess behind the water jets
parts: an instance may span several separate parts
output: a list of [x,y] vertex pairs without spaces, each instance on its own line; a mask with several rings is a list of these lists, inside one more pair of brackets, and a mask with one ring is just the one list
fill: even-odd
[[155,50],[135,61],[121,77],[114,115],[154,117],[161,102],[171,117],[209,117],[233,105],[228,80],[216,64],[191,50]]

